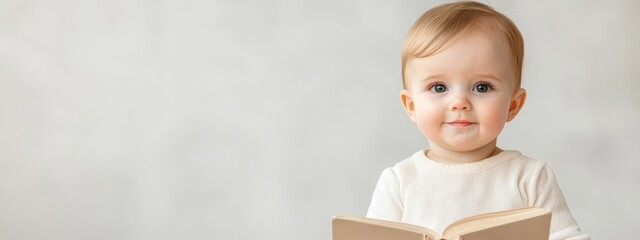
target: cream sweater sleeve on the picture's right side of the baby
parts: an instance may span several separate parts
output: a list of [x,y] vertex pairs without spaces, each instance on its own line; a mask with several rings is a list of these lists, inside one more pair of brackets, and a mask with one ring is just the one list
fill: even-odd
[[540,171],[536,182],[533,204],[551,211],[550,240],[591,240],[580,231],[578,224],[571,216],[564,195],[556,182],[555,175],[546,164]]

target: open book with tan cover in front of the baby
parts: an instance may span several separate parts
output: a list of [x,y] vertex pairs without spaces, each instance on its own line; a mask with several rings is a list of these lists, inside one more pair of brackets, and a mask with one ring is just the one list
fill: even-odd
[[334,216],[333,240],[548,240],[551,212],[537,207],[475,215],[445,228],[442,236],[425,227],[385,220]]

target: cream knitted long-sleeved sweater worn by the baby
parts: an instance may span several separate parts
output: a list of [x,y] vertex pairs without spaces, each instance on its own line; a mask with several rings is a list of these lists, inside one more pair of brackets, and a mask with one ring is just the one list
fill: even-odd
[[464,217],[528,206],[552,211],[549,239],[590,239],[571,216],[549,166],[518,151],[464,164],[439,163],[419,151],[382,172],[367,217],[442,234]]

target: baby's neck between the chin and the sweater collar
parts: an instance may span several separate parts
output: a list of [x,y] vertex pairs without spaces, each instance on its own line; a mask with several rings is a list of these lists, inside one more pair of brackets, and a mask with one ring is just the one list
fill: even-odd
[[429,159],[442,163],[472,163],[492,157],[502,152],[502,149],[494,144],[487,144],[484,147],[470,151],[455,151],[442,148],[437,145],[430,145],[426,155]]

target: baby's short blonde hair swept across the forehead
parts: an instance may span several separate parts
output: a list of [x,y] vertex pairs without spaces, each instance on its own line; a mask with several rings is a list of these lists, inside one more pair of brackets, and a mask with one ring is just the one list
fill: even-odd
[[428,57],[447,46],[455,37],[488,25],[497,27],[509,44],[515,68],[516,88],[520,88],[524,40],[516,25],[505,15],[479,2],[443,4],[425,12],[413,24],[402,46],[402,85],[407,89],[405,68],[413,58]]

